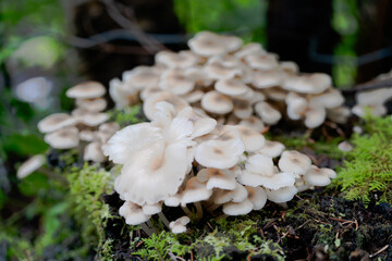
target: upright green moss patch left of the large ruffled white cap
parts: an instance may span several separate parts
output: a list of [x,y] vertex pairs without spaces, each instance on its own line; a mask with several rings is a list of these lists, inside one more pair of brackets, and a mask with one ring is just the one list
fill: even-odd
[[103,243],[103,229],[110,213],[102,196],[112,190],[111,174],[98,165],[86,163],[82,170],[73,167],[66,178],[70,183],[71,209],[81,224],[84,241],[91,246]]

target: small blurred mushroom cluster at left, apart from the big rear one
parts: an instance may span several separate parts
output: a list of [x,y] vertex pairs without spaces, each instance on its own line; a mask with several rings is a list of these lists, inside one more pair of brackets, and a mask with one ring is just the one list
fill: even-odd
[[38,123],[45,141],[54,149],[84,147],[85,161],[105,162],[102,146],[119,130],[117,123],[107,123],[109,114],[102,112],[107,101],[106,88],[97,82],[78,84],[66,91],[75,99],[76,109],[71,114],[54,113]]

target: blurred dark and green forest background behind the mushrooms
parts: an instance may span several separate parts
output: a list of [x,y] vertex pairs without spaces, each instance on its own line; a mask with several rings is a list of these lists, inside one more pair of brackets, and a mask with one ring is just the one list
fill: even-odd
[[152,64],[160,50],[186,49],[206,29],[261,42],[302,72],[324,72],[351,88],[391,70],[391,14],[390,0],[1,0],[0,221],[17,213],[4,202],[23,208],[38,194],[46,201],[35,198],[30,216],[61,211],[56,196],[44,199],[53,185],[47,176],[16,183],[14,173],[47,149],[36,123],[72,109],[66,88],[86,79],[108,86],[125,70]]

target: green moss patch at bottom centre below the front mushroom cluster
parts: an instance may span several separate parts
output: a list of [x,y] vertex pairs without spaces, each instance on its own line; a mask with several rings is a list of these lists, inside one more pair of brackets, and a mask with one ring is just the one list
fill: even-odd
[[211,220],[213,232],[206,227],[189,226],[188,234],[174,235],[160,232],[143,239],[140,248],[133,254],[148,258],[148,260],[172,260],[173,257],[185,258],[192,252],[196,260],[231,259],[230,251],[234,250],[244,259],[256,254],[271,254],[277,260],[284,260],[282,249],[271,240],[264,240],[257,235],[256,221],[241,217],[235,220]]

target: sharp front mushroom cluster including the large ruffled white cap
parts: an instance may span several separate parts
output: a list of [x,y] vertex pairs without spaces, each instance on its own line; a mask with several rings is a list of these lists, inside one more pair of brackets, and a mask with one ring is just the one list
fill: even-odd
[[[159,101],[151,120],[117,132],[103,149],[122,165],[114,189],[125,201],[120,214],[130,225],[163,216],[163,204],[189,214],[186,206],[193,203],[199,217],[204,208],[220,207],[226,215],[243,215],[261,209],[267,199],[284,203],[335,177],[334,171],[311,165],[307,156],[284,150],[252,127],[218,124],[198,108]],[[169,226],[182,233],[187,222]]]

